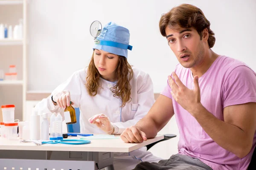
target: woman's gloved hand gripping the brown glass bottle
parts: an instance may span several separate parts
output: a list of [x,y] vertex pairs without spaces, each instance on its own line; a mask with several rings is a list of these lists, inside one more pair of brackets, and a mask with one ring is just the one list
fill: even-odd
[[[67,90],[56,92],[52,95],[52,100],[56,102],[59,107],[66,108],[70,105],[70,92]],[[74,103],[71,102],[71,105],[73,104]]]

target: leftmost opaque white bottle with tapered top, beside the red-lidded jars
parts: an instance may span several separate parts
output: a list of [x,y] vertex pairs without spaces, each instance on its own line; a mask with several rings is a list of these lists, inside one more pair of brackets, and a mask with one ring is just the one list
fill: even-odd
[[30,116],[30,138],[40,140],[40,115],[35,108],[33,108]]

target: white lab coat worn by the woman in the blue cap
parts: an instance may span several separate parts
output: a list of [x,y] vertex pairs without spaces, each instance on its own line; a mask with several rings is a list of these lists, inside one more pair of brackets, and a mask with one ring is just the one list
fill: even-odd
[[[59,85],[52,94],[56,91],[70,91],[71,101],[74,102],[73,107],[80,109],[81,133],[104,134],[104,131],[100,130],[96,125],[90,124],[88,121],[90,117],[104,113],[118,127],[115,128],[115,134],[121,134],[126,127],[135,125],[142,119],[154,103],[151,78],[148,74],[137,68],[133,68],[133,71],[134,76],[130,81],[131,101],[126,103],[123,108],[120,108],[121,99],[117,96],[114,97],[110,90],[110,88],[116,85],[114,82],[109,82],[101,78],[102,88],[98,89],[97,95],[90,96],[87,93],[87,88],[85,87],[86,69],[76,71],[66,82]],[[61,109],[58,105],[53,105],[51,96],[39,102],[36,108],[41,112],[59,112],[61,115],[64,115],[64,109]],[[141,161],[158,162],[160,160],[161,158],[153,156],[144,147],[130,153],[115,153],[114,167],[116,170],[131,170]]]

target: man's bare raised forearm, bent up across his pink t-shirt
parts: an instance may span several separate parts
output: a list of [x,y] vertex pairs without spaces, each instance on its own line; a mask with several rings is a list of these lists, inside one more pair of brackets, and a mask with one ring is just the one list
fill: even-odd
[[247,139],[247,135],[243,130],[217,119],[202,105],[199,105],[193,112],[192,115],[198,123],[218,145],[234,153],[236,156],[244,157],[247,155],[248,150],[250,150],[248,146],[250,139]]

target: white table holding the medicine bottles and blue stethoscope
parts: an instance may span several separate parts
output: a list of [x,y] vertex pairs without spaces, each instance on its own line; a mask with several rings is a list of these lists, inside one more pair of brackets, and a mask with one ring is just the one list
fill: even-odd
[[[83,145],[43,144],[41,146],[34,143],[20,143],[18,139],[0,138],[0,170],[7,167],[5,164],[8,162],[13,164],[12,167],[15,167],[16,165],[13,163],[15,161],[24,164],[24,166],[28,164],[26,162],[37,166],[42,163],[45,167],[48,166],[46,162],[56,166],[60,164],[63,166],[64,164],[69,166],[74,164],[75,166],[75,164],[82,163],[83,168],[79,170],[97,170],[104,167],[113,170],[114,152],[131,152],[163,138],[163,135],[157,135],[154,139],[148,139],[139,144],[124,143],[121,139],[91,139],[90,144]],[[33,166],[31,165],[31,170]],[[15,170],[17,169],[20,170],[20,167],[15,167]],[[55,169],[57,170],[57,168]],[[23,170],[25,169],[23,168]]]

